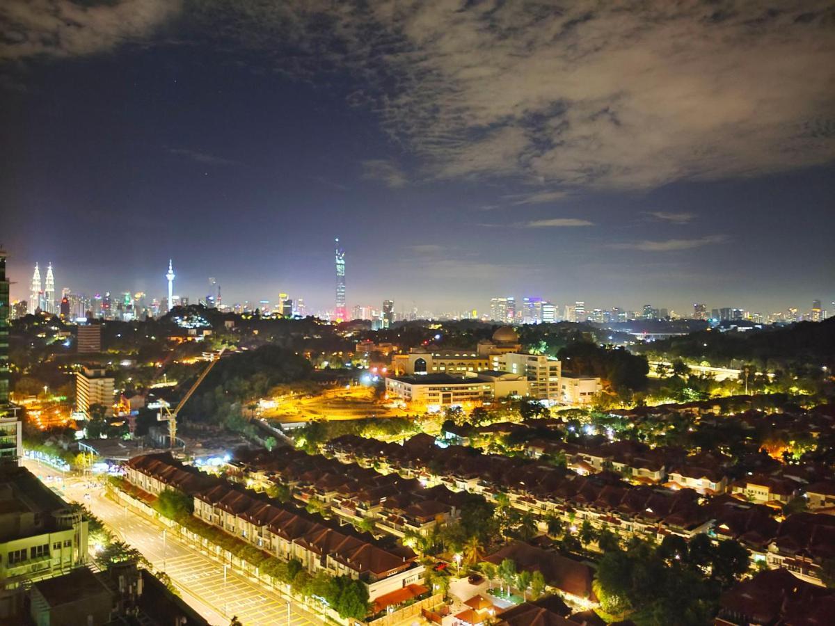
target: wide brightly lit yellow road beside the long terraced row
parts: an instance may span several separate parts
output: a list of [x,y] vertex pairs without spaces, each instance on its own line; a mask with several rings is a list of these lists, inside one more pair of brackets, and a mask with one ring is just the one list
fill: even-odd
[[[233,615],[245,626],[312,626],[320,618],[296,602],[289,607],[280,593],[236,573],[203,553],[181,543],[164,527],[113,502],[99,482],[89,477],[63,475],[38,462],[24,465],[68,501],[87,506],[125,543],[139,550],[154,568],[167,573],[185,602],[210,623],[227,624]],[[92,485],[92,486],[91,486]]]

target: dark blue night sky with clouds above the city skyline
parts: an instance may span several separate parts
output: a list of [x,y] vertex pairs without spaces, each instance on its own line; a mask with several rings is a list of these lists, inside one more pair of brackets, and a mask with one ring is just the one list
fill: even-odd
[[829,3],[272,4],[0,3],[13,297],[835,300]]

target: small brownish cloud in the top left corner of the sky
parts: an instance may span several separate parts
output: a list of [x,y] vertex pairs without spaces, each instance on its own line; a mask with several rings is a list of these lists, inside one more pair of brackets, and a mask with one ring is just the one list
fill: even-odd
[[180,0],[5,0],[0,59],[98,53],[148,37],[180,13]]

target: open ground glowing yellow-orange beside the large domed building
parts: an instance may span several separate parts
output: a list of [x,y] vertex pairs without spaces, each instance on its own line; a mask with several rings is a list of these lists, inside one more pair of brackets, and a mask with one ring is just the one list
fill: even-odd
[[384,404],[374,396],[372,387],[351,386],[327,389],[314,396],[274,398],[275,406],[262,409],[261,416],[277,422],[310,420],[358,420],[363,417],[403,417],[409,413]]

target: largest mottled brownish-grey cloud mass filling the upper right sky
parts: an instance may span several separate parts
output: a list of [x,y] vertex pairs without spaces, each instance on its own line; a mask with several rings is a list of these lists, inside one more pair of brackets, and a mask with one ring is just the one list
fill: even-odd
[[353,71],[422,177],[645,189],[835,159],[825,0],[228,6],[220,30],[289,75]]

